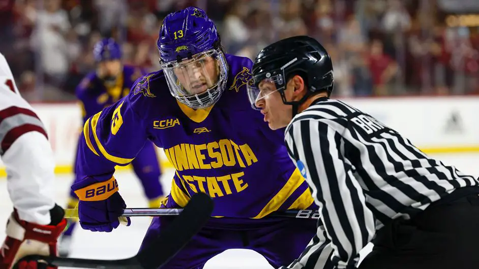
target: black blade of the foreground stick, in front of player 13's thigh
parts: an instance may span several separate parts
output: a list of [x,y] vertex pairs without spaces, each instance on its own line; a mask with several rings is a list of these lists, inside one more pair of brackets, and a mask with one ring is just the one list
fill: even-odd
[[136,255],[141,267],[154,269],[166,264],[206,224],[213,207],[209,195],[201,192],[193,195],[183,212],[161,230],[151,245]]

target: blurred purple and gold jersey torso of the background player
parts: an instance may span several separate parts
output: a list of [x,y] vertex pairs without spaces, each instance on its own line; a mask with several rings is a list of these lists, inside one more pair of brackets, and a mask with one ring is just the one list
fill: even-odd
[[145,72],[140,68],[125,65],[122,74],[116,79],[115,85],[107,87],[98,78],[96,72],[88,73],[75,90],[80,101],[83,123],[105,107],[111,106],[117,100],[127,96],[133,83],[144,74]]

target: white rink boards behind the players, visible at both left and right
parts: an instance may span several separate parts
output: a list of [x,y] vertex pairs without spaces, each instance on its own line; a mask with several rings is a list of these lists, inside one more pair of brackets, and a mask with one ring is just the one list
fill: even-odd
[[[426,152],[479,152],[477,96],[348,98],[344,102],[396,129]],[[79,106],[67,103],[33,107],[46,126],[57,167],[68,171],[65,167],[72,166],[82,129]],[[159,153],[166,162],[163,151]]]

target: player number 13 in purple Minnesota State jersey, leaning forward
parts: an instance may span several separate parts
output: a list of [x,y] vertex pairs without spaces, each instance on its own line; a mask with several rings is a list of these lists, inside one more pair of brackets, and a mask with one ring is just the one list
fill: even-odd
[[[107,232],[118,226],[126,205],[114,166],[130,163],[152,141],[176,169],[162,207],[184,207],[196,192],[215,203],[213,218],[162,268],[202,268],[235,248],[254,250],[275,267],[289,264],[307,247],[316,221],[268,215],[316,207],[283,145],[284,130],[270,130],[251,109],[252,61],[225,54],[215,24],[199,8],[166,16],[158,49],[161,71],[86,120],[77,165],[82,180],[72,186],[80,225]],[[141,248],[171,220],[154,218]]]

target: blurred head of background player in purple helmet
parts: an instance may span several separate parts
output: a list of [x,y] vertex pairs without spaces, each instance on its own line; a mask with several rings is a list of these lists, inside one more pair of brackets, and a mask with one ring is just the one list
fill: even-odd
[[97,62],[97,75],[107,86],[113,86],[122,71],[122,49],[112,38],[95,44],[93,56]]

